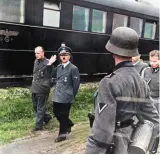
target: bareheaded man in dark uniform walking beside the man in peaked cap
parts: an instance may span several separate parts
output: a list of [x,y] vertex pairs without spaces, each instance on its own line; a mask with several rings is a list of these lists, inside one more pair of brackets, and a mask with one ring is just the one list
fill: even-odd
[[52,56],[50,60],[46,59],[44,49],[40,46],[35,48],[35,56],[31,91],[33,108],[36,113],[36,125],[32,131],[42,130],[43,125],[47,124],[51,119],[51,116],[45,112],[51,86],[52,68],[48,64],[49,61],[56,61],[56,56]]

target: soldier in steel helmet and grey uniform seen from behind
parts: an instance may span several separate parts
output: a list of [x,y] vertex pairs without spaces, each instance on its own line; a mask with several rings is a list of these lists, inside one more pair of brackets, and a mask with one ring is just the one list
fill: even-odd
[[112,153],[127,154],[135,115],[141,116],[140,121],[151,121],[153,133],[158,132],[159,117],[150,102],[148,86],[132,64],[132,57],[139,55],[137,47],[138,34],[127,27],[116,28],[106,45],[116,66],[99,84],[88,154],[111,153],[113,148]]

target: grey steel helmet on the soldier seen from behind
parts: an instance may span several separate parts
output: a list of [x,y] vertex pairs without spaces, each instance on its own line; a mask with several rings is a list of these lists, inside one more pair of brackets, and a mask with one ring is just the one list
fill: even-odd
[[112,32],[110,40],[106,44],[106,49],[120,56],[138,56],[138,40],[138,34],[133,29],[118,27]]

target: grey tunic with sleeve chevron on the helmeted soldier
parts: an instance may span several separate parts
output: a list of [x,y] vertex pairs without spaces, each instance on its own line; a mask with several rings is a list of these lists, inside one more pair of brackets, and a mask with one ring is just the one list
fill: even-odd
[[127,154],[133,128],[131,125],[118,128],[117,122],[130,120],[136,115],[153,122],[154,134],[157,134],[159,117],[156,108],[150,102],[147,84],[132,62],[119,63],[112,74],[101,80],[96,102],[95,121],[86,153],[106,153],[114,142],[115,154]]

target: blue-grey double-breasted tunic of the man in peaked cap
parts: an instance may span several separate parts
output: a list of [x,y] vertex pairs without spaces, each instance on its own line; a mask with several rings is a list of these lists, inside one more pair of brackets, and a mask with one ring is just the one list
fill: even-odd
[[70,62],[64,69],[62,65],[59,65],[56,70],[56,86],[53,93],[53,101],[73,103],[80,85],[78,68]]

